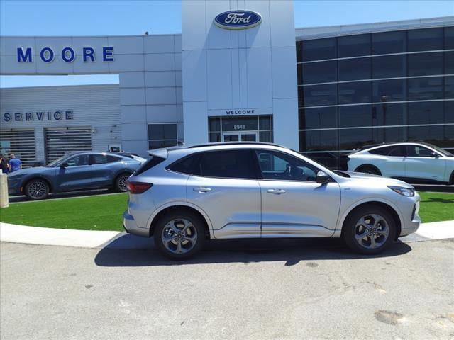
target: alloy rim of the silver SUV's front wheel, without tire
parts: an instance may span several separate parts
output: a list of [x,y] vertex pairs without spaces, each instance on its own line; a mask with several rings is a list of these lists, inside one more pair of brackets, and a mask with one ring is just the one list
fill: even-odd
[[365,215],[356,222],[355,239],[364,248],[379,248],[387,241],[388,237],[389,226],[381,215]]

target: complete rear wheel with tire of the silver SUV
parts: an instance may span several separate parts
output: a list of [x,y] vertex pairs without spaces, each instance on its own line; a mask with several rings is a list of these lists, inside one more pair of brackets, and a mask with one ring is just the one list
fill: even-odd
[[176,210],[162,216],[154,230],[155,245],[172,260],[186,260],[197,254],[205,242],[205,222],[194,212]]

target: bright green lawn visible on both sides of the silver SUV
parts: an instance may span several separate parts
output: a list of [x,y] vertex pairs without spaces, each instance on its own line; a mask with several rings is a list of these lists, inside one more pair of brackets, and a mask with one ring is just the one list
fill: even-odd
[[[421,192],[423,222],[454,220],[454,193]],[[126,193],[13,203],[0,210],[0,221],[17,225],[84,230],[123,230]]]

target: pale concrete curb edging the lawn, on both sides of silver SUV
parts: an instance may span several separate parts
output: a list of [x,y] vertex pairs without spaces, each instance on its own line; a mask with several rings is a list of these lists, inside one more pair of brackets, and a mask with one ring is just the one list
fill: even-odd
[[[128,241],[121,240],[127,235]],[[402,237],[402,242],[421,242],[431,239],[454,238],[454,220],[423,223],[415,234]],[[147,249],[153,242],[150,239],[134,237],[126,232],[97,230],[54,229],[28,227],[0,222],[0,241],[42,244],[48,246],[76,246],[82,248]]]

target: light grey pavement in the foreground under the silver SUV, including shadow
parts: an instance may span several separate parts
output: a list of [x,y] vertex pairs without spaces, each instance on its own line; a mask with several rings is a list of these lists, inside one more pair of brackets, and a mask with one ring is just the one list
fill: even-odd
[[454,239],[155,249],[0,244],[1,339],[453,339]]

